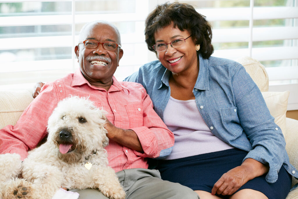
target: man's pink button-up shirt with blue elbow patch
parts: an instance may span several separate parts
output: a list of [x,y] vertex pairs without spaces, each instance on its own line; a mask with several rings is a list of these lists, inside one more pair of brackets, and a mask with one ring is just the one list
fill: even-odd
[[116,172],[148,168],[147,157],[162,158],[171,152],[174,135],[153,110],[152,101],[141,84],[118,82],[113,77],[113,85],[107,92],[91,86],[80,70],[77,70],[45,84],[15,126],[8,125],[0,130],[0,153],[18,153],[22,159],[26,158],[28,149],[35,148],[46,136],[48,118],[58,102],[69,95],[90,96],[89,99],[95,105],[108,112],[106,117],[116,127],[136,132],[144,153],[112,140],[105,147],[109,166]]

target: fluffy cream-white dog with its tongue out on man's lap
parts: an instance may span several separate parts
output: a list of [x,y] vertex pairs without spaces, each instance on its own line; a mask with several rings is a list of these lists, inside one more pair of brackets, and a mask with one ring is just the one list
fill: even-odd
[[[0,198],[52,198],[61,186],[125,198],[117,175],[107,166],[104,114],[85,98],[60,101],[49,117],[46,143],[30,151],[23,163],[17,154],[0,155]],[[17,178],[20,173],[23,178]]]

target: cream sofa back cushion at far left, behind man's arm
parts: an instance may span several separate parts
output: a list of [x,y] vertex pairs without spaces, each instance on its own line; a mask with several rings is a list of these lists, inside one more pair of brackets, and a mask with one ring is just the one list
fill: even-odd
[[32,91],[0,91],[0,129],[15,123],[33,100]]

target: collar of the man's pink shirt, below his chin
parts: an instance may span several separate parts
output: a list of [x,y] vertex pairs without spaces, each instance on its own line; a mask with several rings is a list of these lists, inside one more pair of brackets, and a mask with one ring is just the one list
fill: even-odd
[[[113,76],[112,77],[112,80],[113,80],[113,84],[111,85],[110,89],[108,90],[108,92],[111,92],[111,91],[121,91],[123,89],[125,90],[128,90],[125,86],[121,85],[119,83],[119,81],[117,81],[117,79]],[[72,84],[71,84],[71,87],[74,87],[74,86],[81,86],[83,84],[88,84],[89,87],[91,88],[94,88],[94,89],[98,89],[98,90],[102,90],[101,88],[97,88],[97,87],[94,87],[92,86],[83,76],[82,72],[80,69],[77,69],[75,72],[74,72],[74,75],[73,75],[73,79],[72,79]],[[129,92],[129,90],[128,90]]]

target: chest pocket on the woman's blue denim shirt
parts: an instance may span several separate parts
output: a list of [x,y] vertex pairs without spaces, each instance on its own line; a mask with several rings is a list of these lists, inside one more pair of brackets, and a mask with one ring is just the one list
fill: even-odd
[[243,132],[241,127],[237,107],[221,109],[221,120],[224,128],[232,135],[238,136]]

